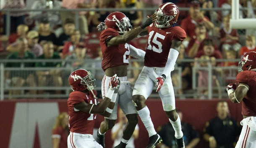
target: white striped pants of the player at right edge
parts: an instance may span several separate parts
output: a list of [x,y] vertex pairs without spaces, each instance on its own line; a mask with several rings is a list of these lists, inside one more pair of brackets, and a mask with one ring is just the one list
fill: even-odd
[[235,148],[256,148],[256,117],[247,117],[240,123],[243,128]]

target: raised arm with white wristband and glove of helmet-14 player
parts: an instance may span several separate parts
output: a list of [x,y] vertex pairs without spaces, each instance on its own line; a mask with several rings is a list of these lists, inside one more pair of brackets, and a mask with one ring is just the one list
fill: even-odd
[[113,96],[115,93],[116,94],[118,93],[119,87],[120,87],[120,79],[116,77],[116,74],[115,74],[110,80],[110,89],[108,90],[105,96],[105,99],[102,100],[102,102],[99,102],[98,105],[81,102],[74,105],[74,108],[90,114],[103,114],[106,111],[110,102],[115,101],[116,95],[115,97]]

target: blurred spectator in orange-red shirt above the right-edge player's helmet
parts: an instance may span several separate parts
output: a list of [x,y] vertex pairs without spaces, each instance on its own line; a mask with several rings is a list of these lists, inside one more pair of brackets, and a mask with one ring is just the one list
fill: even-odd
[[246,36],[246,46],[243,46],[240,50],[240,56],[243,57],[247,52],[255,51],[255,37],[254,36]]

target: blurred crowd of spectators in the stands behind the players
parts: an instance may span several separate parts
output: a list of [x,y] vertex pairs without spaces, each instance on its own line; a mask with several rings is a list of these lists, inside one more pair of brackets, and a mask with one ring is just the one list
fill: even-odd
[[[185,30],[187,38],[180,47],[178,59],[194,59],[195,62],[180,62],[176,66],[181,67],[180,75],[172,74],[174,87],[178,87],[181,81],[182,87],[176,93],[182,95],[192,89],[192,66],[197,66],[197,87],[203,88],[199,98],[207,96],[208,71],[200,67],[209,66],[209,61],[214,67],[238,66],[238,62],[216,62],[216,59],[240,59],[248,51],[256,51],[255,36],[253,34],[240,33],[237,29],[230,28],[230,14],[232,0],[34,0],[31,8],[37,9],[66,9],[67,11],[26,11],[26,3],[29,0],[5,0],[2,10],[8,8],[20,8],[22,11],[10,13],[10,35],[6,36],[6,13],[0,13],[0,54],[5,59],[62,59],[63,62],[36,62],[36,63],[6,63],[6,67],[72,67],[80,69],[86,67],[93,71],[99,68],[102,55],[99,48],[99,34],[96,26],[104,22],[110,11],[79,11],[78,28],[76,28],[75,12],[68,9],[76,8],[130,8],[123,12],[131,21],[133,28],[140,26],[143,20],[143,12],[136,8],[157,8],[165,2],[176,3],[179,7],[189,8],[188,11],[180,10],[177,25]],[[16,3],[17,2],[17,3]],[[51,3],[50,3],[51,2]],[[247,0],[240,0],[240,8],[247,7]],[[250,0],[253,8],[256,0]],[[201,8],[223,8],[219,11],[201,10]],[[147,11],[152,14],[153,11]],[[247,11],[240,10],[240,18],[247,18]],[[145,38],[136,38],[132,42],[134,46],[146,50]],[[2,56],[1,56],[2,57]],[[3,59],[2,57],[2,59]],[[204,62],[201,62],[203,59]],[[90,62],[84,62],[89,60]],[[134,62],[133,66],[141,66]],[[96,69],[97,82],[101,82],[104,71]],[[22,73],[22,74],[21,74]],[[66,84],[68,72],[60,70],[49,71],[8,71],[5,79],[11,81],[12,86],[22,87],[60,87]],[[103,73],[103,74],[102,74]],[[129,80],[133,83],[139,72],[131,71]],[[225,86],[235,79],[237,71],[232,69],[214,69],[212,74],[213,87]],[[34,81],[31,81],[34,80]],[[101,84],[99,84],[100,87]],[[218,97],[221,91],[216,89]],[[20,92],[12,90],[10,94]],[[31,94],[44,91],[29,91]],[[56,93],[62,93],[56,90]],[[101,93],[98,93],[101,94]]]

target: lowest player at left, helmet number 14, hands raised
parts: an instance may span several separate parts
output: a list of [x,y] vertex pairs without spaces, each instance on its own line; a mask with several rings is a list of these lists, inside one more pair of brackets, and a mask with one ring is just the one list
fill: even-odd
[[110,102],[115,102],[115,98],[120,87],[120,80],[116,74],[110,78],[109,89],[102,102],[97,102],[94,94],[96,80],[90,71],[78,69],[73,71],[68,78],[68,82],[73,92],[68,97],[69,129],[68,148],[102,148],[97,143],[93,135],[93,128],[96,119],[95,114],[105,114],[105,110]]

